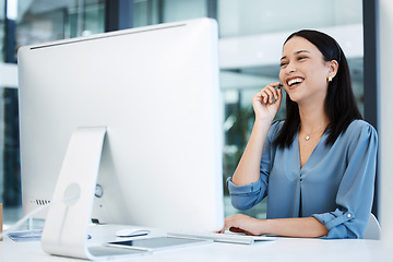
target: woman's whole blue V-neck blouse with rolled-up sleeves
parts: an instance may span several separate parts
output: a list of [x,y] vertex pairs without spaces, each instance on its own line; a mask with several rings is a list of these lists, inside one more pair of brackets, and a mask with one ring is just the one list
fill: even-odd
[[228,178],[233,205],[249,210],[269,195],[267,218],[313,216],[327,228],[324,238],[362,238],[373,199],[376,130],[354,120],[333,145],[325,145],[325,132],[300,168],[298,134],[289,147],[272,146],[283,123],[270,129],[260,180],[236,186]]

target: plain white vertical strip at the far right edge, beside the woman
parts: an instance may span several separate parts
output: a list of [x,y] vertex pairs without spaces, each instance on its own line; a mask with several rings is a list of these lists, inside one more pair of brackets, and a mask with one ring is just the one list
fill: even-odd
[[378,3],[380,223],[382,239],[393,249],[393,1],[379,0]]

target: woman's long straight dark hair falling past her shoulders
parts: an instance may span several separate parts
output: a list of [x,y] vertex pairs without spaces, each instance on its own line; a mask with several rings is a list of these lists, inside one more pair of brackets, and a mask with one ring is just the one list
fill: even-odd
[[[302,29],[288,36],[284,45],[294,36],[299,36],[313,44],[322,52],[325,61],[336,60],[338,70],[332,82],[329,82],[324,100],[324,109],[330,120],[326,128],[329,133],[326,145],[333,144],[338,135],[346,131],[355,119],[362,119],[356,105],[350,83],[349,68],[345,55],[331,36],[311,29]],[[300,127],[299,107],[289,96],[286,96],[286,118],[273,144],[279,147],[289,147]]]

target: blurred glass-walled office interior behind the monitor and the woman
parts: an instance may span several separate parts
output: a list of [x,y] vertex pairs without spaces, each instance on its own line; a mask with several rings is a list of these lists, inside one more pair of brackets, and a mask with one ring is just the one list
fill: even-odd
[[[2,0],[0,56],[3,64],[14,66],[16,70],[20,46],[201,16],[216,19],[219,25],[222,124],[225,134],[223,168],[226,178],[231,176],[253,123],[251,97],[267,83],[278,80],[282,44],[294,31],[317,28],[337,39],[348,58],[358,106],[365,118],[377,127],[376,76],[372,70],[364,67],[367,59],[371,59],[367,67],[372,69],[372,61],[374,63],[374,47],[368,46],[368,40],[372,43],[374,37],[373,2]],[[364,37],[365,34],[372,36],[371,39]],[[365,52],[365,46],[369,52]],[[0,202],[4,203],[5,222],[12,223],[22,215],[17,86],[2,83],[1,75],[4,74],[5,70],[0,67]],[[283,117],[282,108],[277,118]],[[226,215],[235,214],[237,211],[230,206],[228,198],[225,199]],[[265,202],[247,213],[265,217]]]

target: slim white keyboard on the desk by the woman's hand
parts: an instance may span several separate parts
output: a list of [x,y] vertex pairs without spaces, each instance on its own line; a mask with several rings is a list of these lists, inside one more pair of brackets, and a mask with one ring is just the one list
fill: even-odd
[[189,231],[171,231],[168,233],[170,237],[182,237],[182,238],[201,238],[211,239],[215,242],[227,242],[227,243],[242,243],[252,245],[254,241],[273,241],[276,237],[271,236],[247,236],[235,233],[189,233]]

